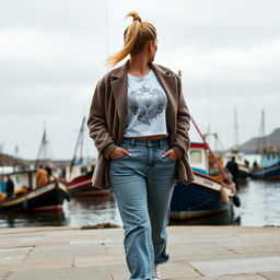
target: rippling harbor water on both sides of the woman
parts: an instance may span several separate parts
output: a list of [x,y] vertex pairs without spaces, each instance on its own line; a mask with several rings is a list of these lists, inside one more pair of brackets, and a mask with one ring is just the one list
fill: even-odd
[[[208,218],[172,224],[241,226],[280,226],[280,182],[252,180],[237,192],[241,207]],[[104,197],[78,197],[65,201],[59,213],[0,213],[0,228],[18,226],[92,226],[101,223],[121,225],[112,194]]]

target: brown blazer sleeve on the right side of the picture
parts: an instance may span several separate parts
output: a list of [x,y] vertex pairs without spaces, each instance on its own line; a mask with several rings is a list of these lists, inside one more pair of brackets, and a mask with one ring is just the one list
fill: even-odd
[[190,114],[188,106],[184,100],[182,93],[182,82],[180,79],[176,75],[177,80],[177,91],[178,91],[178,107],[177,107],[177,133],[175,141],[173,143],[174,151],[182,158],[184,154],[187,154],[190,140],[189,140],[189,128],[190,128]]

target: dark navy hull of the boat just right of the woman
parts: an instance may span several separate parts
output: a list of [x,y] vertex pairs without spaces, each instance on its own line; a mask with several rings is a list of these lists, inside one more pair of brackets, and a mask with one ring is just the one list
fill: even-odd
[[221,201],[221,182],[197,172],[194,174],[196,179],[191,184],[177,182],[171,201],[171,219],[188,220],[231,209],[234,195],[231,189],[226,189],[229,202],[224,203]]

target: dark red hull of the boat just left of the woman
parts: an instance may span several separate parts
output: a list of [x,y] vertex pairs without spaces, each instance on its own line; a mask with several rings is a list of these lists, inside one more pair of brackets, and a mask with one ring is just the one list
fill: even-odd
[[92,174],[81,175],[66,186],[71,196],[105,196],[109,192],[92,186]]

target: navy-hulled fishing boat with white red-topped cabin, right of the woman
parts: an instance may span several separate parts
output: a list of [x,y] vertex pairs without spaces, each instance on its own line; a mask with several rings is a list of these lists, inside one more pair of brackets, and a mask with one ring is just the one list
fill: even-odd
[[[234,205],[240,206],[234,184],[217,160],[192,118],[191,121],[203,142],[190,143],[188,158],[195,182],[190,184],[176,183],[171,200],[171,220],[207,217],[223,211],[232,211]],[[224,179],[209,175],[208,152],[215,161]]]

